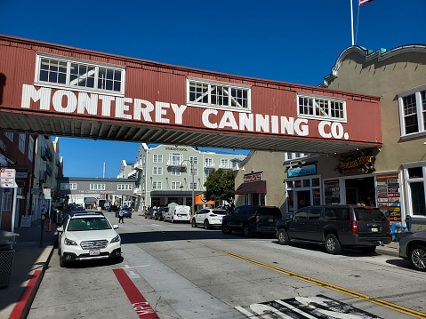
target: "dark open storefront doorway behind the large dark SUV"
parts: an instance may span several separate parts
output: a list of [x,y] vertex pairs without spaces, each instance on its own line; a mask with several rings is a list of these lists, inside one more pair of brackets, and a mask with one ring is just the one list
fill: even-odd
[[374,177],[345,179],[346,203],[375,206]]

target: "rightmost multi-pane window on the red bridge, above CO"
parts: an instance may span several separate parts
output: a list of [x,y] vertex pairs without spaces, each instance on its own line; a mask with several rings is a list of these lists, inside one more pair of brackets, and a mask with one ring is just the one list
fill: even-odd
[[346,103],[324,96],[298,94],[297,112],[299,116],[345,121]]

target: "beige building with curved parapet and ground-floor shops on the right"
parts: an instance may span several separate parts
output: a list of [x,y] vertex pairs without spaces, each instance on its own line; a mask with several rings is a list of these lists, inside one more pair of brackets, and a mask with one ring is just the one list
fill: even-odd
[[[382,147],[320,156],[255,152],[237,172],[236,187],[251,179],[247,171],[262,172],[266,186],[254,181],[258,189],[237,194],[237,205],[263,197],[267,205],[294,212],[309,204],[366,203],[380,206],[393,224],[408,218],[413,230],[426,227],[425,74],[426,45],[376,52],[350,46],[319,86],[380,97]],[[368,129],[359,123],[359,130]]]

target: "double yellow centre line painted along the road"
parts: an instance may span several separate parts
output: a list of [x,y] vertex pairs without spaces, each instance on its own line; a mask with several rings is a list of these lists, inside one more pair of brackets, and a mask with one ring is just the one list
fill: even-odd
[[347,294],[347,295],[349,295],[351,297],[355,297],[355,298],[362,299],[362,300],[365,300],[365,301],[368,301],[368,302],[372,302],[372,303],[374,303],[376,305],[379,305],[379,306],[382,306],[382,307],[388,307],[388,308],[390,308],[392,310],[398,311],[398,312],[406,314],[406,315],[413,315],[413,316],[415,316],[417,318],[426,319],[426,314],[425,313],[421,313],[421,312],[415,311],[413,309],[409,309],[409,308],[406,308],[406,307],[398,306],[396,304],[393,304],[391,302],[388,302],[388,301],[385,301],[385,300],[382,300],[382,299],[375,299],[375,298],[369,297],[369,296],[367,296],[365,294],[359,293],[357,291],[350,291],[349,289],[342,288],[340,286],[336,286],[336,285],[334,285],[332,283],[322,282],[320,280],[317,280],[317,279],[314,279],[314,278],[310,278],[307,275],[296,274],[296,273],[293,273],[291,271],[288,271],[288,270],[285,270],[285,269],[282,269],[282,268],[278,268],[278,267],[275,267],[275,266],[272,266],[272,265],[268,265],[268,264],[265,264],[265,263],[263,263],[261,261],[257,261],[257,260],[254,260],[254,259],[249,259],[249,258],[237,255],[237,254],[229,252],[229,251],[221,251],[221,252],[224,253],[224,254],[226,254],[226,255],[229,255],[231,257],[234,257],[234,258],[237,258],[237,259],[241,259],[241,260],[245,260],[245,261],[250,262],[250,263],[252,263],[254,265],[258,265],[258,266],[261,266],[261,267],[268,268],[270,270],[277,271],[278,273],[285,274],[285,275],[290,275],[293,278],[305,281],[307,283],[314,283],[314,284],[317,284],[318,286],[330,289],[332,291],[342,292],[342,293]]

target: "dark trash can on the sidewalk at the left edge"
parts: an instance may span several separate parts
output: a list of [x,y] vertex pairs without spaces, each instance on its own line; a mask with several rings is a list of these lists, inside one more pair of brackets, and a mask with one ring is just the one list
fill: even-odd
[[0,230],[0,287],[9,285],[15,250],[12,245],[19,234]]

